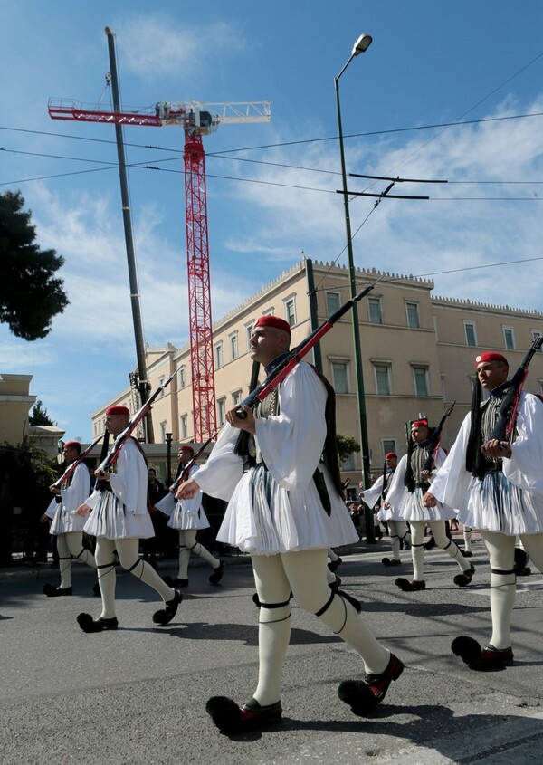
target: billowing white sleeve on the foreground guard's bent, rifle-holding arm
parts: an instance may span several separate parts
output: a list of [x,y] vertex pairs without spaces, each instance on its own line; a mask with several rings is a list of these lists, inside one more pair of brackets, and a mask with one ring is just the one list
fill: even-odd
[[303,489],[313,478],[327,433],[326,398],[315,370],[302,361],[281,384],[279,415],[256,419],[262,459],[283,489]]

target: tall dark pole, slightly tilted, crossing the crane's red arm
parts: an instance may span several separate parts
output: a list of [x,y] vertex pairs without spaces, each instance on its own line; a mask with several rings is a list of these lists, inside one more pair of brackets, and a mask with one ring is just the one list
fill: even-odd
[[[120,111],[119,78],[117,75],[117,59],[115,56],[115,34],[106,27],[108,37],[108,50],[110,52],[111,90],[113,95],[113,110]],[[132,304],[132,320],[134,323],[134,337],[136,339],[136,357],[138,359],[138,387],[141,405],[148,400],[150,385],[147,376],[145,362],[145,342],[143,339],[143,322],[141,320],[141,307],[139,302],[138,272],[136,269],[136,256],[134,253],[134,237],[132,234],[132,218],[130,215],[129,182],[127,175],[127,162],[125,158],[122,125],[115,124],[115,137],[117,139],[117,156],[119,158],[120,197],[122,202],[122,218],[124,223],[125,243],[127,248],[127,260],[129,263],[130,301]],[[154,443],[153,420],[151,413],[147,416],[148,444]]]

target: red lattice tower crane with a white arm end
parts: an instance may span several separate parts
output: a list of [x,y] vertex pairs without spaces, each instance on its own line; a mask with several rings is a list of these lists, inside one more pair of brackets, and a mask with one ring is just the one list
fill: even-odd
[[194,440],[203,443],[216,431],[213,332],[207,244],[205,151],[202,136],[219,125],[269,122],[269,101],[200,103],[164,101],[155,106],[98,110],[74,100],[50,99],[52,120],[105,122],[162,128],[176,125],[185,132],[186,263],[193,386]]

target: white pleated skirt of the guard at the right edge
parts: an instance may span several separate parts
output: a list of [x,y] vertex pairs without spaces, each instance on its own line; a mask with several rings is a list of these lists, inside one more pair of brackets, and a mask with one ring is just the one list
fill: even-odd
[[525,492],[500,471],[486,473],[470,492],[467,508],[458,520],[483,531],[500,531],[507,536],[543,532],[543,498]]

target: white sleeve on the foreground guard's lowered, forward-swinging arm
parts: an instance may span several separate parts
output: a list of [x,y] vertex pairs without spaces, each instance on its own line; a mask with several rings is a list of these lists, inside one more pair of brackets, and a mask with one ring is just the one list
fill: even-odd
[[191,477],[210,497],[229,502],[243,477],[243,460],[233,453],[240,431],[226,424],[217,438],[207,462],[191,472]]

